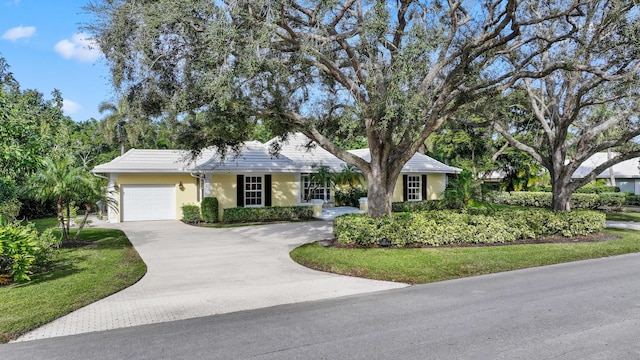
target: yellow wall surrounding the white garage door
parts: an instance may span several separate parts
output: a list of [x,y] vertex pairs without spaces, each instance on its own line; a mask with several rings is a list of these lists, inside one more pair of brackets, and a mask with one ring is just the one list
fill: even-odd
[[[122,185],[174,185],[176,189],[176,220],[182,219],[182,205],[198,205],[198,188],[196,178],[189,174],[119,174],[115,180],[118,186]],[[178,184],[182,182],[184,190],[180,190]],[[120,193],[115,194],[118,199],[118,206],[122,203]],[[119,210],[119,208],[118,208]],[[118,211],[119,212],[119,211]],[[116,217],[121,220],[120,215]]]

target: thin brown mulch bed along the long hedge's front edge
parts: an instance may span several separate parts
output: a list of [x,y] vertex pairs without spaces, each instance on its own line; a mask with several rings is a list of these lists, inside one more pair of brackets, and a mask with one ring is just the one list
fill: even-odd
[[[609,240],[617,240],[620,239],[619,236],[613,234],[606,233],[597,233],[597,234],[589,234],[582,236],[573,236],[573,237],[564,237],[564,236],[547,236],[539,239],[522,239],[517,241],[512,241],[508,243],[494,243],[494,244],[470,244],[470,243],[458,243],[458,244],[447,244],[441,246],[433,246],[427,244],[409,244],[407,246],[402,247],[403,249],[418,249],[418,248],[453,248],[453,247],[481,247],[481,246],[508,246],[508,245],[525,245],[525,244],[575,244],[575,243],[585,243],[585,242],[602,242]],[[335,247],[335,248],[345,248],[345,249],[357,249],[357,248],[383,248],[378,244],[373,244],[371,246],[360,246],[357,244],[341,244],[338,242],[338,239],[325,239],[318,241],[322,246],[325,247]],[[399,247],[391,246],[389,248],[398,249]]]

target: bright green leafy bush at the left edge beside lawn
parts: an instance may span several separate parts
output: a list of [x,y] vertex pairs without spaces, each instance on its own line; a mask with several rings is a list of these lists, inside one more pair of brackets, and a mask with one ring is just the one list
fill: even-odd
[[38,234],[32,224],[0,226],[0,274],[12,275],[16,282],[29,281],[34,266],[44,267],[56,246],[52,231]]

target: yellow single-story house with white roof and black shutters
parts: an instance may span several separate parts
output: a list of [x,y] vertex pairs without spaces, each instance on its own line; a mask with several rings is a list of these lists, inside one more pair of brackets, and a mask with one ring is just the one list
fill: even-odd
[[[109,210],[109,221],[121,222],[181,219],[183,205],[199,205],[205,196],[218,199],[220,217],[223,209],[232,207],[298,205],[305,202],[304,189],[317,166],[339,172],[344,164],[319,146],[307,149],[310,141],[299,133],[278,156],[269,153],[273,141],[246,142],[239,156],[228,154],[222,160],[206,150],[195,162],[188,161],[186,151],[131,149],[92,171],[109,179],[108,190],[118,203]],[[352,152],[369,160],[367,149]],[[460,171],[415,154],[403,167],[393,200],[437,199],[447,174]],[[312,198],[330,202],[332,192],[319,187]]]

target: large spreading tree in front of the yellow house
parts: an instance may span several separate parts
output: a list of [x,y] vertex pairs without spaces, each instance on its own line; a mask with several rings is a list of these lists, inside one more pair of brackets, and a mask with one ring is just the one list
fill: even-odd
[[[223,114],[190,117],[200,120],[194,135],[211,134],[198,147],[239,144],[253,117],[276,135],[301,131],[362,171],[369,214],[380,217],[434,130],[462,104],[529,75],[529,63],[565,36],[542,41],[525,29],[579,17],[578,3],[97,0],[87,9],[115,86],[136,106]],[[505,61],[523,47],[527,56]],[[204,131],[216,119],[231,138]],[[333,141],[336,129],[365,136],[371,161]]]

